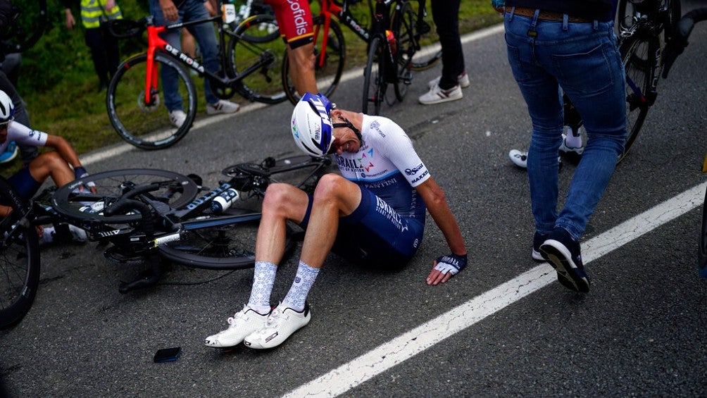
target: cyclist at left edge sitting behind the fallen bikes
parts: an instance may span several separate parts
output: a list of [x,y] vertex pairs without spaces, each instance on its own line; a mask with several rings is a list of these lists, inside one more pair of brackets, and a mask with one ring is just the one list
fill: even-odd
[[[54,151],[40,154],[28,165],[8,177],[10,185],[17,190],[23,199],[26,201],[32,199],[47,177],[52,177],[54,184],[61,187],[74,181],[75,178],[88,175],[69,142],[60,136],[53,136],[44,131],[33,130],[24,124],[13,122],[14,114],[15,106],[12,100],[4,91],[0,90],[0,153],[5,151],[11,141],[16,141],[18,144],[54,148]],[[71,171],[69,164],[74,168],[74,171]],[[95,187],[90,187],[90,189],[95,193]],[[7,216],[10,211],[10,207],[0,204],[1,217]],[[56,226],[56,228],[56,232],[61,231],[59,235],[63,236],[54,235],[54,227],[40,227],[37,232],[43,234],[40,235],[43,242],[51,242],[55,236],[65,238],[64,240],[86,240],[86,232],[80,228],[67,224]]]

